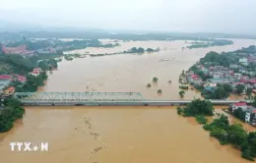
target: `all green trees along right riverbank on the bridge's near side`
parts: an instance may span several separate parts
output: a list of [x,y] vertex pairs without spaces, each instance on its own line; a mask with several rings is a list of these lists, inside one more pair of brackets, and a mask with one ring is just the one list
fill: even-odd
[[[256,132],[247,133],[242,125],[230,124],[228,117],[224,114],[216,113],[215,115],[211,102],[200,99],[193,100],[185,107],[177,107],[177,114],[183,117],[194,117],[199,124],[204,125],[203,129],[209,131],[210,136],[217,138],[222,145],[231,144],[242,152],[242,158],[249,161],[255,160],[256,142],[254,139]],[[214,115],[214,120],[210,123],[204,117],[213,117]],[[245,115],[243,117],[245,118]]]

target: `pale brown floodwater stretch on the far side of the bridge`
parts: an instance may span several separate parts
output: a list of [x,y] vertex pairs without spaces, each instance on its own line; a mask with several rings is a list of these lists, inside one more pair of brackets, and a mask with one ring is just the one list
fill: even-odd
[[[73,53],[92,54],[120,52],[132,47],[161,49],[160,52],[144,55],[119,54],[63,61],[41,91],[138,91],[148,99],[178,99],[178,77],[182,70],[187,70],[207,52],[232,51],[256,44],[256,40],[233,41],[234,44],[228,46],[185,50],[182,50],[188,45],[185,41],[119,42],[121,46],[114,48],[75,50]],[[147,83],[152,82],[154,77],[159,79],[158,83],[148,88]],[[158,89],[162,90],[161,95],[158,95]],[[199,96],[195,91],[188,90],[184,99]]]

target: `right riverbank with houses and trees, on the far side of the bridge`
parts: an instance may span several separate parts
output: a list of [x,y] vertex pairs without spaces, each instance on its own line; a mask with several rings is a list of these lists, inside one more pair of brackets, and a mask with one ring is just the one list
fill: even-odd
[[252,99],[256,88],[255,52],[254,45],[231,52],[209,52],[185,73],[182,71],[179,82],[189,82],[206,99],[226,99],[231,94]]

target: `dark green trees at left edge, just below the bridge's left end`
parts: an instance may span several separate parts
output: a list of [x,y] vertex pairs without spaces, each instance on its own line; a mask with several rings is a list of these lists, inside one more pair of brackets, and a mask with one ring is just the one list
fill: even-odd
[[17,100],[7,98],[3,105],[3,110],[0,111],[0,133],[10,131],[14,122],[22,118],[25,113],[24,108],[21,107],[21,103]]

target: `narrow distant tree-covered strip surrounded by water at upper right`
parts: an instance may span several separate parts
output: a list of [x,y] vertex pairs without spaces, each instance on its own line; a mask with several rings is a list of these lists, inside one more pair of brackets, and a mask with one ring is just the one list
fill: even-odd
[[209,39],[204,42],[193,42],[192,45],[187,46],[189,49],[193,48],[206,48],[206,47],[211,47],[211,46],[225,46],[225,45],[230,45],[233,44],[233,41],[231,40],[225,40],[225,39]]

